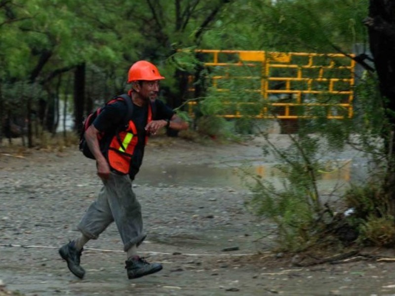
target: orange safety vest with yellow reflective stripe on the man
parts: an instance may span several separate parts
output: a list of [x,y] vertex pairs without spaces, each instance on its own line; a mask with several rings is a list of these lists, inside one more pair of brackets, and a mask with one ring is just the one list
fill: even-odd
[[[152,108],[148,104],[147,123],[152,121]],[[134,149],[138,141],[137,129],[132,120],[124,131],[120,131],[111,140],[108,149],[108,162],[114,170],[122,174],[128,174]],[[148,142],[148,134],[145,137],[145,144]]]

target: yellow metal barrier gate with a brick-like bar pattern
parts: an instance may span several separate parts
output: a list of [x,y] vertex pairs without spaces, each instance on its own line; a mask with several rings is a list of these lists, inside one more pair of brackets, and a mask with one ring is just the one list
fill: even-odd
[[[236,87],[248,93],[244,93],[243,100],[224,99],[220,116],[353,116],[355,61],[342,54],[205,49],[196,52],[212,73],[211,84],[217,91],[230,93]],[[190,87],[190,91],[194,88]],[[191,115],[196,104],[188,103]]]

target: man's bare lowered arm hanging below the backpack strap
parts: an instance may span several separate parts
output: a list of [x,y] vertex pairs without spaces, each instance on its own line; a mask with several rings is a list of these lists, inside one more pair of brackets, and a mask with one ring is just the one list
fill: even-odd
[[108,179],[110,176],[110,166],[106,158],[100,151],[99,140],[97,139],[99,133],[100,132],[95,128],[95,126],[91,124],[85,131],[84,137],[86,140],[86,144],[89,147],[89,150],[96,158],[97,175],[101,179],[105,180]]

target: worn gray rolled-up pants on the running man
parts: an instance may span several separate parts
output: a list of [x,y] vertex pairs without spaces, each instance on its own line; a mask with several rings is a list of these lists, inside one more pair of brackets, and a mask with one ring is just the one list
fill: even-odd
[[99,195],[82,217],[77,228],[90,239],[97,239],[110,223],[117,224],[123,250],[145,239],[141,206],[132,190],[128,175],[110,174]]

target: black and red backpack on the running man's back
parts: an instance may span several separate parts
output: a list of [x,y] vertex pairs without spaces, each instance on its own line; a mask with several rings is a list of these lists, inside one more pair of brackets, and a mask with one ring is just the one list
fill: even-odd
[[[130,99],[130,97],[127,94],[123,94],[123,95],[119,95],[119,96],[114,97],[113,99],[108,101],[105,104],[105,106],[108,105],[108,104],[112,104],[112,103],[114,103],[115,101],[118,101],[118,100],[123,100],[126,103],[127,115],[125,116],[125,118],[123,118],[122,124],[119,125],[119,127],[118,127],[118,129],[116,131],[116,135],[118,135],[118,132],[121,129],[127,127],[127,125],[129,124],[129,120],[132,117],[132,112],[133,112],[133,103],[132,103],[132,100]],[[155,105],[155,104],[152,104],[152,105]],[[90,159],[95,159],[95,157],[93,156],[92,152],[89,150],[88,145],[86,144],[86,140],[85,140],[84,134],[85,134],[85,131],[88,129],[88,127],[92,124],[92,122],[100,114],[100,112],[103,111],[105,106],[102,106],[102,107],[98,108],[96,111],[90,112],[88,114],[88,116],[86,116],[86,119],[83,121],[83,124],[82,124],[82,130],[81,130],[81,133],[79,135],[79,151],[81,151],[82,154],[85,157],[90,158]],[[104,145],[105,145],[105,143],[103,143],[103,141],[100,141],[102,138],[103,138],[103,136],[99,137],[99,146],[100,146],[100,150],[101,151],[103,151]]]

